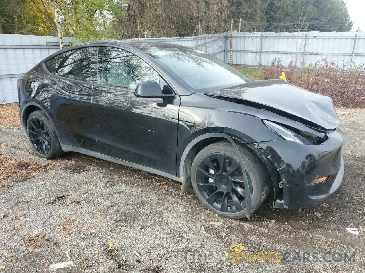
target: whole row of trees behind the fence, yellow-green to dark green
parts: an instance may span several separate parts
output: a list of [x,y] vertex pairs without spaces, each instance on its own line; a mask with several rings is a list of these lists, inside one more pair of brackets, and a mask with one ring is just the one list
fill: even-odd
[[0,33],[62,35],[81,41],[241,31],[349,31],[343,0],[0,0]]

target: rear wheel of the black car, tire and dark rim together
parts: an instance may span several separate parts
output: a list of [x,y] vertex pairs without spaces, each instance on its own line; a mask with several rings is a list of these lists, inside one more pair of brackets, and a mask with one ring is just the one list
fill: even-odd
[[53,123],[41,110],[34,111],[29,115],[27,136],[29,143],[39,157],[55,158],[64,153]]

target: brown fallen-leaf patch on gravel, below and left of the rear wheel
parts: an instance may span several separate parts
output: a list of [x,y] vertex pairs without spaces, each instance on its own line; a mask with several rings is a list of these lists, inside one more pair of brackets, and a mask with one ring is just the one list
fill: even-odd
[[11,155],[0,155],[0,182],[5,179],[27,177],[38,171],[51,169],[51,163],[40,164],[31,159],[13,159]]

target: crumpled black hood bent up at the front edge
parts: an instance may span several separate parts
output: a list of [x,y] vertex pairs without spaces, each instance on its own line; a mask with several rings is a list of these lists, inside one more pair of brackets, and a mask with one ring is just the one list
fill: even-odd
[[204,94],[260,103],[306,119],[326,130],[333,130],[340,124],[330,97],[315,94],[280,79],[255,80]]

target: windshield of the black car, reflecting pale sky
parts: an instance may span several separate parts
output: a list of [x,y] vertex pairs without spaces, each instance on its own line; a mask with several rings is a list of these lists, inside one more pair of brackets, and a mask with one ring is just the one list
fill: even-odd
[[143,47],[142,50],[170,68],[197,92],[249,82],[237,70],[204,51],[173,45],[162,47],[152,44]]

